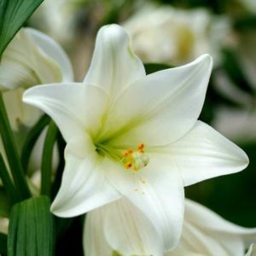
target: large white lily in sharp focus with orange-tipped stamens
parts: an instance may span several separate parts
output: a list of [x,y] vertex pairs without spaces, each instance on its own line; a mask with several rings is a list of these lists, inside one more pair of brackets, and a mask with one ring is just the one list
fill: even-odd
[[23,100],[48,113],[67,142],[57,216],[121,197],[151,221],[162,245],[177,244],[183,186],[239,172],[247,155],[198,121],[212,70],[209,55],[146,76],[121,26],[103,26],[83,83],[45,84]]

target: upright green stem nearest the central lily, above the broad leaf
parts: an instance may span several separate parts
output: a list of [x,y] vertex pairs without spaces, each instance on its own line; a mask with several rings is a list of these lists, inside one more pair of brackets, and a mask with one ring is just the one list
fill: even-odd
[[49,123],[49,128],[44,141],[44,150],[41,165],[41,195],[50,195],[50,178],[52,173],[52,158],[58,128],[53,121]]

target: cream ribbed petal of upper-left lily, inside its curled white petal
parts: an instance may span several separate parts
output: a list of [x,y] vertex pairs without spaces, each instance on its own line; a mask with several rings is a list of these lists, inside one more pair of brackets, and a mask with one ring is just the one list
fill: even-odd
[[59,63],[38,47],[29,30],[21,29],[3,52],[0,88],[14,90],[61,80]]

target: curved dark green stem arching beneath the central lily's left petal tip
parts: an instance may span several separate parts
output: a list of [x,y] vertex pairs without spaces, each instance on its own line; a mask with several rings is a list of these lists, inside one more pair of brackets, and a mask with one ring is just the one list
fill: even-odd
[[41,132],[44,130],[44,127],[49,124],[49,121],[50,121],[49,116],[44,114],[38,120],[38,122],[32,127],[32,129],[29,131],[26,137],[26,141],[23,144],[23,147],[21,150],[21,164],[25,172],[27,172],[27,166],[28,166],[30,156],[32,154],[32,149],[35,143],[37,142]]

